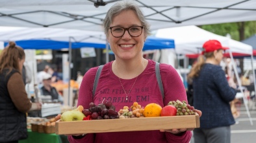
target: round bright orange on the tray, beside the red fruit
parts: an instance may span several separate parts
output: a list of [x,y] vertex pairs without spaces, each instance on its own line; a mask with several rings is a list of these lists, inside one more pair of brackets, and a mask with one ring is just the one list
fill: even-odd
[[143,115],[145,117],[153,117],[153,116],[160,116],[160,113],[162,111],[162,107],[159,104],[147,104],[146,107],[144,107],[144,113]]

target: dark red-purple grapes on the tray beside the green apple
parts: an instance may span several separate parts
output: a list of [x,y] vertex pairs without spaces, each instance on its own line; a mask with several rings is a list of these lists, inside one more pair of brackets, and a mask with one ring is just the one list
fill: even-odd
[[119,118],[116,107],[112,102],[105,100],[102,104],[95,105],[94,102],[89,104],[89,109],[83,109],[82,113],[86,118],[84,120],[101,120]]

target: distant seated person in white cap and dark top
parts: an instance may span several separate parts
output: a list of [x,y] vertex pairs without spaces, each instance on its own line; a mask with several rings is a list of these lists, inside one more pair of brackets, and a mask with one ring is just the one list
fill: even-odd
[[51,100],[53,102],[63,102],[62,96],[58,93],[57,89],[55,87],[51,86],[51,74],[44,74],[43,76],[43,86],[40,89],[40,93],[42,96],[44,95],[50,95]]

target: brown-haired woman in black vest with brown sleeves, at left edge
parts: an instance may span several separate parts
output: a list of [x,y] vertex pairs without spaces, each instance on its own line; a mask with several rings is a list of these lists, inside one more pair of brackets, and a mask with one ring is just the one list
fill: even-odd
[[12,41],[0,54],[0,142],[18,143],[27,138],[26,113],[42,107],[27,97],[22,79],[24,61],[24,50]]

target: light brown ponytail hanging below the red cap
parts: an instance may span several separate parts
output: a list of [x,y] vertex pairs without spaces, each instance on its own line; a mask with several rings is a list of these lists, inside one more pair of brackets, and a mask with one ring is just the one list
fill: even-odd
[[196,78],[199,76],[199,72],[201,70],[201,67],[205,64],[205,58],[211,58],[213,55],[213,52],[205,52],[203,55],[200,55],[198,57],[198,62],[194,67],[192,67],[191,71],[188,74],[188,78]]

